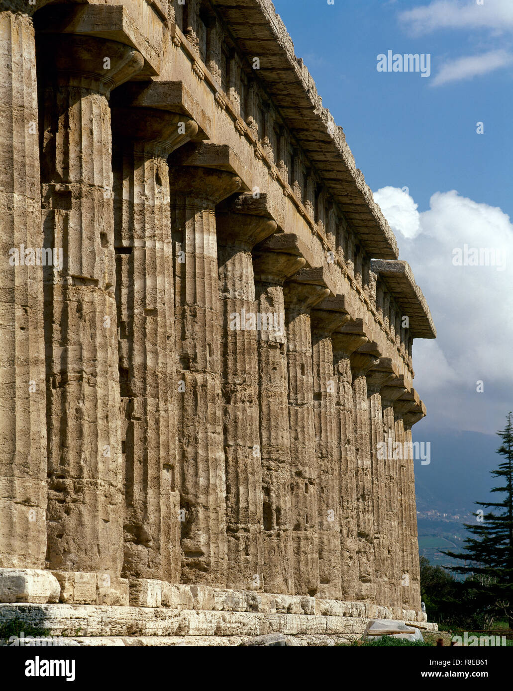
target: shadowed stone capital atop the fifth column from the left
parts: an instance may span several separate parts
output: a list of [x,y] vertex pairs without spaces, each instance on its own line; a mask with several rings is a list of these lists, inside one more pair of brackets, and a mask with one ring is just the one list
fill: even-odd
[[236,194],[216,208],[217,243],[251,252],[254,245],[276,232],[272,201],[267,194]]

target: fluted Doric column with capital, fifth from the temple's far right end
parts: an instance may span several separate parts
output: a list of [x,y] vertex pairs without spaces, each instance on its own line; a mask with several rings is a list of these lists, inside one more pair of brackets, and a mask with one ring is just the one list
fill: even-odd
[[360,583],[357,600],[375,600],[374,520],[371,466],[371,410],[366,372],[377,365],[380,352],[366,343],[351,354],[355,406],[355,453],[357,497],[357,555]]

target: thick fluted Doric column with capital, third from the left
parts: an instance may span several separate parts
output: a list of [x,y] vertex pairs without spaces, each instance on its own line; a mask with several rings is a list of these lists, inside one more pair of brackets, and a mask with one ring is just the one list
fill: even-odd
[[[125,468],[123,576],[180,580],[176,348],[167,157],[198,131],[165,110],[174,84],[111,99],[116,303]],[[135,104],[134,104],[135,102]],[[144,107],[144,106],[152,107]]]

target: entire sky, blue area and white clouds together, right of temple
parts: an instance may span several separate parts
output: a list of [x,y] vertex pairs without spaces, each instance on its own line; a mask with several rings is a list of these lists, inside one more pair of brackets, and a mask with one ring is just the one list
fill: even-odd
[[[493,434],[513,409],[513,0],[483,3],[274,0],[433,314],[417,433]],[[388,50],[429,53],[431,76],[378,72]],[[496,261],[455,265],[465,245]]]

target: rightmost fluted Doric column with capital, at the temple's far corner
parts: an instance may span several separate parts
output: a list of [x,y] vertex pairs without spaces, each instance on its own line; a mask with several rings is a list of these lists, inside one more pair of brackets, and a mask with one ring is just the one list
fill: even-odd
[[406,454],[406,481],[407,481],[407,512],[408,512],[408,527],[409,527],[409,574],[410,574],[410,589],[409,589],[409,606],[420,612],[420,563],[418,553],[418,530],[417,530],[417,503],[415,498],[415,473],[413,470],[413,440],[411,438],[411,428],[416,422],[425,417],[426,407],[418,399],[418,395],[414,389],[411,390],[411,395],[414,397],[411,409],[404,413],[404,437],[407,442],[407,449],[409,453]]

